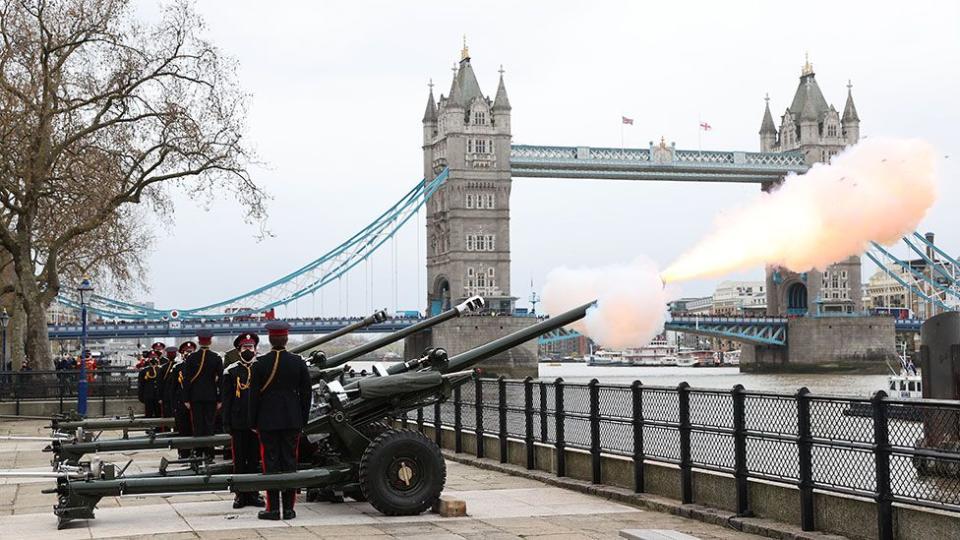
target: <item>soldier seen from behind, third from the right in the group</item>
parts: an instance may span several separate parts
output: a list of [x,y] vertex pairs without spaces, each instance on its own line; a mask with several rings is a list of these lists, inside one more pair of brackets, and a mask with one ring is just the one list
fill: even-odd
[[[223,360],[219,354],[210,350],[213,332],[200,330],[197,341],[200,343],[200,350],[183,362],[183,394],[184,405],[190,411],[193,436],[204,437],[214,434],[214,421],[220,409]],[[213,459],[213,448],[199,448],[197,451]]]

